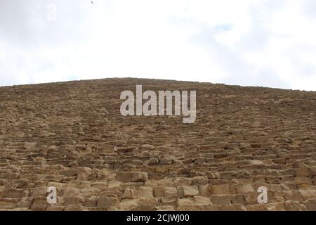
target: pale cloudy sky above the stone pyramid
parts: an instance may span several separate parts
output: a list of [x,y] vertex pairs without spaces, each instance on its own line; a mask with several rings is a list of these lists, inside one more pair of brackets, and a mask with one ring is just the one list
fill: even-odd
[[0,86],[107,77],[316,91],[316,1],[0,0]]

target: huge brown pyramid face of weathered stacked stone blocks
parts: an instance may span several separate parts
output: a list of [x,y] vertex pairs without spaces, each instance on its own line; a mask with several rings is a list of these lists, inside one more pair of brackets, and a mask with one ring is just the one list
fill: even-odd
[[[196,90],[197,120],[122,116],[136,84]],[[315,210],[315,105],[308,91],[155,79],[0,87],[0,210]]]

